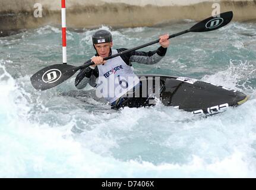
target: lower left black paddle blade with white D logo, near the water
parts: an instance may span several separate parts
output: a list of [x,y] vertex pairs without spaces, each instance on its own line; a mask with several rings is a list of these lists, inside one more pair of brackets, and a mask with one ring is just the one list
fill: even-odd
[[63,83],[77,72],[77,66],[56,64],[36,72],[31,78],[31,84],[36,90],[47,90]]

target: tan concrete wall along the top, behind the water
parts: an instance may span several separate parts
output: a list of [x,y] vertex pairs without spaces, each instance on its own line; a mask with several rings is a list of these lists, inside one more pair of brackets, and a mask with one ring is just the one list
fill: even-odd
[[[232,10],[233,20],[256,20],[256,0],[67,0],[67,27],[94,28],[153,26],[182,19],[202,20],[214,2],[221,12]],[[43,17],[34,17],[34,4]],[[0,35],[51,24],[61,26],[61,0],[0,0]]]

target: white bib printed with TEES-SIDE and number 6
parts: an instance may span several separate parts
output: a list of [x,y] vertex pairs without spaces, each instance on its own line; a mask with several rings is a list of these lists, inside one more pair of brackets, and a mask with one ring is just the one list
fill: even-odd
[[[112,49],[112,55],[118,53]],[[137,85],[140,80],[120,56],[109,59],[106,64],[98,65],[99,78],[97,80],[96,95],[104,97],[112,103]]]

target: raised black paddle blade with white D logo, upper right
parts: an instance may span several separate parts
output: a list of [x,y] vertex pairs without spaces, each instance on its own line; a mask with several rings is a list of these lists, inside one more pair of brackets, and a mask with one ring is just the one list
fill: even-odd
[[189,29],[189,31],[202,32],[202,31],[216,30],[228,24],[232,20],[232,18],[233,18],[232,11],[223,12],[219,15],[216,15],[215,17],[206,18],[200,23],[195,24]]

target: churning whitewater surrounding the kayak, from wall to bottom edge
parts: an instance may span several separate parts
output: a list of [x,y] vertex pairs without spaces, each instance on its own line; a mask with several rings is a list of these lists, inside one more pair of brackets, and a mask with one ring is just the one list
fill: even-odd
[[[129,48],[190,25],[101,29],[112,31],[115,48]],[[94,31],[68,31],[70,64],[81,65],[94,54]],[[161,103],[112,112],[91,96],[62,96],[76,90],[75,76],[36,91],[30,76],[62,60],[60,30],[46,26],[1,38],[0,177],[255,178],[256,39],[247,35],[252,33],[254,24],[232,23],[184,35],[172,40],[159,64],[134,64],[138,74],[198,78],[250,96],[244,105],[208,118]]]

